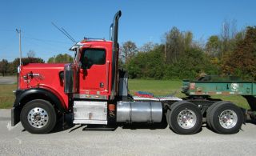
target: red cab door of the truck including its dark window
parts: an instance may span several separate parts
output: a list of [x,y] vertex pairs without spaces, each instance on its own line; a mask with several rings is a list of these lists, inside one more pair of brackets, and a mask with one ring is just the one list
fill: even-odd
[[80,92],[102,94],[106,90],[106,50],[86,48],[82,50],[80,68]]

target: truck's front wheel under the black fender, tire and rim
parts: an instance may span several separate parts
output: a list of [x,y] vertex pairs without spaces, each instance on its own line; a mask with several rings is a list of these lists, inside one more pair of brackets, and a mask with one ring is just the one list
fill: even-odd
[[47,134],[56,125],[54,106],[42,99],[27,102],[20,118],[22,126],[31,134]]

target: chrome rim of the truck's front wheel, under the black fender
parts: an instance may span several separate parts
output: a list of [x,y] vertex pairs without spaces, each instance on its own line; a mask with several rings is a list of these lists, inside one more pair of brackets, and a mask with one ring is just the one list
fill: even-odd
[[42,128],[43,126],[46,126],[48,119],[47,111],[40,107],[33,108],[30,110],[29,114],[27,114],[27,120],[30,123],[30,126],[35,128]]

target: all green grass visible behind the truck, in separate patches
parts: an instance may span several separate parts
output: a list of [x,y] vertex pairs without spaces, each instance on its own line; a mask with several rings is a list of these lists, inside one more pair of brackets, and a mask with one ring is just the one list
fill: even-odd
[[[162,81],[162,80],[129,80],[129,90],[130,94],[135,94],[136,91],[147,91],[153,93],[154,95],[166,95],[174,94],[178,98],[186,97],[185,94],[181,93],[182,81]],[[0,85],[0,109],[11,108],[14,103],[14,93],[17,85]],[[249,106],[245,98],[242,96],[213,96],[212,98],[221,98],[225,101],[234,102],[238,106],[248,109]]]

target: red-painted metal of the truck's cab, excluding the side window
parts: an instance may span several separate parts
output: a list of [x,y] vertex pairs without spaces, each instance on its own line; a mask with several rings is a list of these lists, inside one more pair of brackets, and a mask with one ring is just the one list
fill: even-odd
[[[106,41],[83,41],[81,50],[86,48],[106,50],[106,63],[104,65],[93,65],[90,69],[80,69],[79,72],[79,94],[104,95],[109,98],[111,90],[112,71],[112,42]],[[90,46],[88,46],[90,45]],[[107,73],[108,72],[108,73]],[[100,87],[103,83],[103,87]]]

